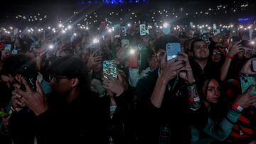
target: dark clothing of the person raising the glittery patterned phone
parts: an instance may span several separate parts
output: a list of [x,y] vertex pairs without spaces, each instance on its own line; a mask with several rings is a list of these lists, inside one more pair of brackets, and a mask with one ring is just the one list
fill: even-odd
[[117,108],[110,118],[110,96],[103,96],[102,106],[107,109],[108,134],[112,137],[114,144],[134,144],[134,121],[132,117],[133,95],[129,90],[119,96],[114,96]]

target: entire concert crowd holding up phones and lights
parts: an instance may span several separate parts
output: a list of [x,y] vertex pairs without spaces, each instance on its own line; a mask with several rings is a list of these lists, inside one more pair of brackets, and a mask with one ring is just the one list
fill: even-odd
[[255,24],[141,24],[1,31],[1,143],[256,143]]

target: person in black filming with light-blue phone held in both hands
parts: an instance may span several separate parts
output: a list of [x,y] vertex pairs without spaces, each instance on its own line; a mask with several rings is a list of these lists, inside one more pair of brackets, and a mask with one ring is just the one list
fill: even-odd
[[178,39],[164,35],[156,40],[159,68],[137,83],[139,143],[190,143],[191,125],[203,128],[207,122],[188,55],[180,52],[167,61],[167,43],[178,43]]

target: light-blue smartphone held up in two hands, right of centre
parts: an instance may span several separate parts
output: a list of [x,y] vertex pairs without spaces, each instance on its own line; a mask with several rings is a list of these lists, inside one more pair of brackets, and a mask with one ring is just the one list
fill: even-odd
[[181,44],[180,43],[167,43],[166,44],[166,54],[167,60],[174,59],[178,57],[178,53],[181,52]]

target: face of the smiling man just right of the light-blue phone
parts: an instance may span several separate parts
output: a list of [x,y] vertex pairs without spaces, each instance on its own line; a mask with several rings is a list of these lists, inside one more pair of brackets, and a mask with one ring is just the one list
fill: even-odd
[[193,57],[195,60],[207,60],[209,56],[208,45],[204,41],[193,44]]

